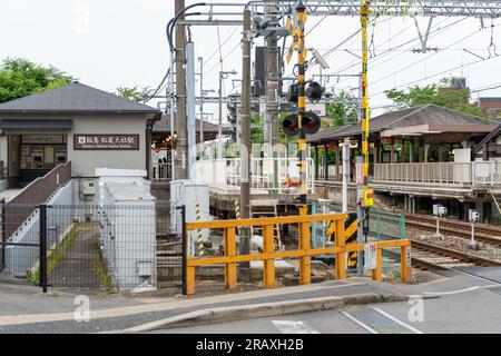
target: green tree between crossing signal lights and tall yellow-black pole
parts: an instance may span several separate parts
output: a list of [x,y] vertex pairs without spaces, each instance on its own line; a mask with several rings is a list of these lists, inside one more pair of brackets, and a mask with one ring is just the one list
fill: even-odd
[[327,105],[327,116],[331,120],[322,120],[322,128],[337,127],[357,122],[356,98],[347,91],[340,91]]

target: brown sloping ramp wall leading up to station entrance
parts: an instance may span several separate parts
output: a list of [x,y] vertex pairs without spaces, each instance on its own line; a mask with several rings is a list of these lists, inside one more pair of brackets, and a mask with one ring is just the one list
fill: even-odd
[[43,204],[53,192],[71,179],[71,161],[56,166],[43,177],[38,177],[26,186],[13,199],[6,204],[6,238],[16,233],[33,212],[33,206]]

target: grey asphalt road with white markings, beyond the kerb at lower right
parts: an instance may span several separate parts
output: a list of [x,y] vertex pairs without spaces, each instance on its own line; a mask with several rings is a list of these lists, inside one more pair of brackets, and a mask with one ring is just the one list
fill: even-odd
[[[475,334],[501,333],[501,286],[450,290],[423,299],[198,325],[163,334]],[[419,310],[419,312],[418,312]]]

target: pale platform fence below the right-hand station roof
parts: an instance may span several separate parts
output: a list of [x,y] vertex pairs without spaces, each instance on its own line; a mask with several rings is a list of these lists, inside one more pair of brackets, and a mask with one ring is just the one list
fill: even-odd
[[376,164],[373,181],[500,185],[501,161]]

